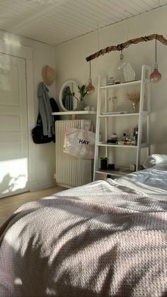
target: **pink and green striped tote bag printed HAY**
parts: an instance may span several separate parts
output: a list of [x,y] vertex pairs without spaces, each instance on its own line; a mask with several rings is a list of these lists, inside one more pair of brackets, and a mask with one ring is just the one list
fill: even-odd
[[80,159],[94,159],[95,137],[92,131],[67,127],[63,151]]

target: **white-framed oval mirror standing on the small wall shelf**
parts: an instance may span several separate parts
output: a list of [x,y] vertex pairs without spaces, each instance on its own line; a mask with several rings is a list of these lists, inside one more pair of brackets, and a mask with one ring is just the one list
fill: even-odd
[[74,111],[77,108],[77,99],[72,93],[78,96],[78,84],[74,80],[68,80],[59,90],[59,104],[63,111]]

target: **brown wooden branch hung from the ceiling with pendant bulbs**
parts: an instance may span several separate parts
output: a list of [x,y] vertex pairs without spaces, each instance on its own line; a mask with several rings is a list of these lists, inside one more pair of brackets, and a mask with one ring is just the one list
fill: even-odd
[[86,57],[86,61],[91,61],[95,59],[96,57],[99,57],[100,55],[105,55],[108,52],[111,52],[113,50],[123,50],[126,47],[129,47],[129,45],[136,45],[137,43],[142,43],[143,41],[150,41],[150,40],[159,40],[163,45],[167,45],[166,38],[163,37],[163,35],[158,34],[152,34],[144,37],[134,38],[126,41],[125,43],[121,43],[120,45],[111,45],[108,47],[103,48],[102,50],[99,50],[98,52],[95,52],[93,55],[90,55],[89,57]]

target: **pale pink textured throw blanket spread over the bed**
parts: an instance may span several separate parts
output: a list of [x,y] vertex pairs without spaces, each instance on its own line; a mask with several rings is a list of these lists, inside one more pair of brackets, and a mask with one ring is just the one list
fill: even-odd
[[96,181],[1,227],[0,296],[167,296],[167,201]]

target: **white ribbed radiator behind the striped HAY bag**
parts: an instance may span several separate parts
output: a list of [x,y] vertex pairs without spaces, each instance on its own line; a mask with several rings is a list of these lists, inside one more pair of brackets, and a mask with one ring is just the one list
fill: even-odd
[[91,159],[79,159],[63,152],[64,132],[67,127],[91,127],[91,120],[67,120],[55,122],[56,133],[56,181],[59,186],[71,188],[92,181]]

